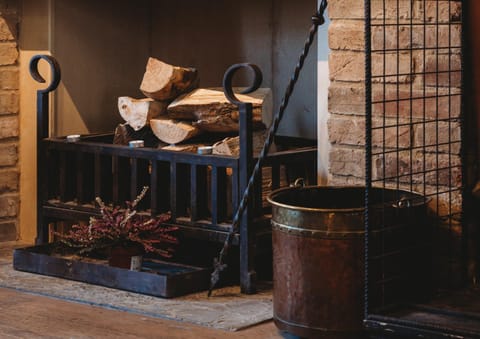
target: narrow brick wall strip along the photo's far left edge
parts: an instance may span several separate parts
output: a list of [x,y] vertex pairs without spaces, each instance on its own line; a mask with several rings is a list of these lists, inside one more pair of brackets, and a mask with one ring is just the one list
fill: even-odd
[[0,0],[0,241],[17,238],[19,66],[17,1]]

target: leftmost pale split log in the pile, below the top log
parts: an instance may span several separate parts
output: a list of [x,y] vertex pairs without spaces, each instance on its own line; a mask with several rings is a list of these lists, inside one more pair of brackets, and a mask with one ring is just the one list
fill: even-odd
[[148,125],[150,119],[166,113],[167,103],[150,98],[134,99],[131,97],[118,98],[118,111],[123,120],[135,131]]

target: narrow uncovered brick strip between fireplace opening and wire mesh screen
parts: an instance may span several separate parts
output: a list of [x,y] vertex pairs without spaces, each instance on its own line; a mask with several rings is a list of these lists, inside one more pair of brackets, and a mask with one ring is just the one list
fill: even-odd
[[329,1],[329,184],[363,184],[365,53],[363,1]]

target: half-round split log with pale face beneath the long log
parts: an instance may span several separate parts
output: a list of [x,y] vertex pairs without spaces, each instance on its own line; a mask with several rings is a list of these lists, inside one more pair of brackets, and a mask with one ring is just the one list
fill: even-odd
[[152,119],[150,127],[158,139],[168,144],[178,144],[200,133],[198,128],[187,122],[169,119]]

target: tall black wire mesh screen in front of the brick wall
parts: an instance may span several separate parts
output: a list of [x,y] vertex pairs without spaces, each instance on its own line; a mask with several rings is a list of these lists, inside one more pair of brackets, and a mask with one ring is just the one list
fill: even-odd
[[[467,281],[462,9],[459,0],[365,1],[367,320],[435,323],[400,310]],[[378,198],[378,188],[397,193]]]

